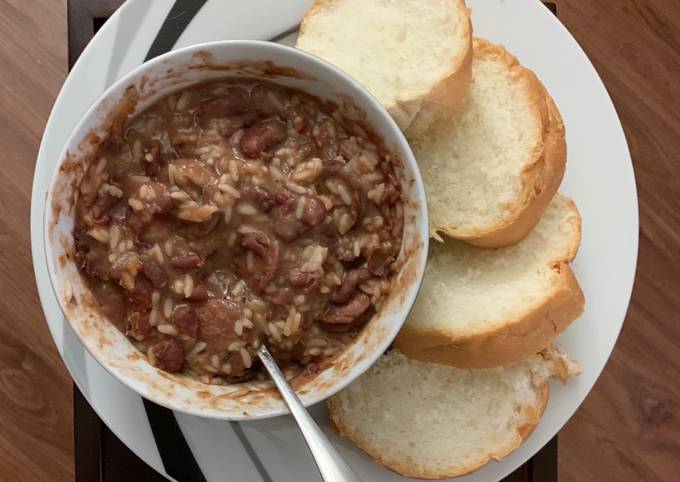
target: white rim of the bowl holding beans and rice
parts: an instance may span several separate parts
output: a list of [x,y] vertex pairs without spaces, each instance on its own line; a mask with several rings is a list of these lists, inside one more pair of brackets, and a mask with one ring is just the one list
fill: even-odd
[[[108,86],[105,90],[101,92],[96,98],[94,102],[87,108],[85,112],[81,114],[79,117],[78,122],[75,124],[73,129],[68,134],[67,140],[65,141],[64,145],[62,146],[60,150],[60,154],[58,156],[58,162],[54,168],[54,171],[50,175],[50,182],[48,186],[48,190],[45,196],[45,204],[46,204],[46,209],[43,211],[43,229],[42,229],[42,235],[43,235],[43,245],[44,245],[44,256],[45,256],[45,261],[46,261],[46,267],[47,267],[47,272],[48,272],[48,281],[50,284],[50,287],[52,289],[52,292],[55,295],[55,298],[57,300],[57,304],[59,306],[59,310],[61,311],[62,316],[64,319],[67,321],[67,323],[71,326],[71,320],[70,317],[66,314],[66,310],[64,309],[63,306],[63,298],[59,293],[59,290],[57,289],[58,286],[58,275],[54,267],[54,263],[52,260],[54,259],[53,256],[53,243],[50,242],[50,224],[51,221],[54,219],[54,214],[53,210],[48,209],[49,205],[51,204],[51,201],[53,199],[53,192],[55,185],[57,184],[59,178],[60,178],[60,171],[61,171],[61,166],[63,165],[64,161],[67,159],[67,155],[69,152],[69,148],[73,145],[74,142],[74,137],[76,134],[81,131],[84,127],[84,125],[87,123],[92,117],[92,115],[99,109],[102,104],[111,96],[111,94],[120,89],[121,86],[129,86],[129,85],[134,85],[134,80],[142,77],[144,73],[147,70],[153,70],[154,67],[159,66],[163,64],[165,61],[172,59],[174,57],[186,55],[189,53],[195,53],[199,51],[210,51],[211,49],[215,48],[238,48],[239,46],[241,47],[253,47],[256,49],[264,49],[267,50],[269,49],[272,51],[273,55],[272,57],[275,57],[276,52],[287,52],[287,54],[293,55],[293,56],[299,56],[303,59],[305,59],[306,62],[311,62],[319,65],[322,69],[327,70],[330,72],[335,78],[337,78],[339,81],[342,83],[345,83],[349,86],[351,86],[354,90],[357,90],[361,92],[361,94],[365,97],[365,101],[369,102],[371,106],[373,107],[374,111],[376,113],[379,113],[380,116],[382,117],[382,120],[385,122],[386,126],[389,128],[389,130],[393,131],[395,133],[396,137],[396,144],[395,147],[397,147],[397,150],[400,151],[399,153],[402,156],[402,162],[404,165],[410,165],[411,171],[412,171],[412,176],[413,176],[413,181],[415,184],[415,190],[417,193],[422,193],[422,195],[415,196],[414,201],[416,204],[420,205],[420,214],[421,218],[416,220],[416,231],[419,232],[420,237],[422,239],[422,247],[420,249],[421,253],[419,254],[421,261],[417,263],[417,269],[416,269],[416,277],[415,280],[409,282],[408,284],[410,285],[410,288],[407,290],[408,296],[404,299],[404,302],[401,303],[401,306],[397,311],[403,312],[403,320],[399,324],[399,328],[403,326],[403,324],[406,322],[406,319],[408,318],[409,313],[411,312],[413,305],[415,303],[416,296],[418,295],[418,292],[420,291],[420,288],[423,283],[423,278],[425,274],[425,268],[427,265],[427,258],[428,258],[428,253],[429,253],[429,242],[430,242],[430,237],[429,237],[429,213],[427,209],[427,197],[426,197],[426,192],[424,188],[424,183],[422,180],[422,176],[420,173],[420,169],[418,167],[418,164],[415,160],[415,156],[412,152],[412,149],[410,147],[410,144],[408,143],[405,135],[401,131],[401,129],[398,127],[396,121],[392,118],[392,116],[389,114],[387,109],[380,103],[380,101],[368,90],[366,89],[363,85],[361,85],[357,80],[355,80],[353,77],[351,77],[348,73],[345,71],[341,70],[339,67],[335,66],[334,64],[331,64],[330,62],[317,57],[309,52],[296,49],[294,47],[289,47],[286,45],[282,45],[279,43],[275,42],[268,42],[264,40],[216,40],[216,41],[210,41],[210,42],[202,42],[198,44],[193,44],[189,45],[187,47],[182,47],[179,49],[171,50],[169,52],[166,52],[158,57],[155,57],[149,61],[146,61],[139,66],[137,66],[135,69],[132,71],[128,72],[126,75],[123,77],[119,78],[115,82],[113,82],[110,86]],[[248,59],[245,59],[246,61]],[[271,58],[269,59],[276,65],[276,59]],[[225,70],[226,72],[226,70]],[[276,80],[274,80],[276,82]],[[183,87],[186,88],[186,87]],[[164,89],[161,89],[163,91]],[[352,97],[352,100],[357,100],[355,97]],[[364,99],[362,99],[361,102],[358,102],[358,105],[363,106],[365,105]],[[92,128],[91,128],[92,129]],[[90,130],[91,130],[90,129]],[[424,232],[423,232],[424,231]],[[373,321],[373,320],[372,320]],[[179,406],[176,404],[173,404],[170,400],[170,397],[166,397],[164,399],[159,398],[156,396],[155,392],[150,392],[150,393],[142,393],[137,386],[132,385],[128,378],[132,379],[134,377],[132,376],[124,376],[121,373],[118,373],[118,370],[112,366],[110,366],[106,361],[103,360],[102,356],[98,353],[97,350],[94,350],[90,348],[90,346],[81,338],[80,333],[73,329],[76,338],[78,341],[85,347],[85,349],[89,352],[90,355],[92,355],[93,359],[100,365],[102,366],[108,373],[110,373],[113,377],[115,377],[118,381],[120,381],[123,385],[125,385],[127,388],[135,392],[137,395],[142,396],[154,403],[157,403],[158,405],[161,405],[165,408],[171,409],[171,410],[176,410],[181,413],[186,413],[188,415],[193,415],[201,418],[206,418],[206,419],[214,419],[214,420],[228,420],[228,421],[246,421],[246,420],[260,420],[260,419],[267,419],[267,418],[273,418],[281,415],[288,414],[288,408],[285,406],[285,404],[281,404],[279,408],[270,408],[266,410],[259,410],[255,413],[248,412],[247,414],[244,413],[231,413],[231,412],[226,412],[223,410],[220,410],[219,408],[212,408],[210,410],[204,410],[204,409],[196,409],[192,407],[187,407],[187,406]],[[397,330],[398,331],[398,330]],[[397,331],[395,331],[395,336]],[[394,337],[392,337],[393,339]],[[383,343],[384,348],[387,348],[389,346],[390,342],[388,343]],[[316,396],[313,397],[300,397],[301,402],[305,407],[310,407],[312,405],[315,405],[317,403],[320,403],[333,395],[335,395],[337,392],[340,390],[344,389],[347,387],[350,383],[352,383],[354,380],[356,380],[359,376],[361,376],[368,368],[373,365],[378,358],[382,355],[384,350],[375,350],[375,353],[368,357],[363,357],[359,361],[357,361],[353,367],[355,368],[356,373],[353,373],[351,376],[345,375],[342,378],[338,379],[338,382],[333,384],[333,389],[330,390],[327,394],[317,394]],[[299,396],[299,395],[298,395]]]

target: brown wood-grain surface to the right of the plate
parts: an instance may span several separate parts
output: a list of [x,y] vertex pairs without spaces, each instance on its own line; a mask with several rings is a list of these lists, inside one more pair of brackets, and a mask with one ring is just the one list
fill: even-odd
[[560,480],[680,480],[680,1],[559,9],[614,100],[640,203],[632,303],[603,375],[560,433]]

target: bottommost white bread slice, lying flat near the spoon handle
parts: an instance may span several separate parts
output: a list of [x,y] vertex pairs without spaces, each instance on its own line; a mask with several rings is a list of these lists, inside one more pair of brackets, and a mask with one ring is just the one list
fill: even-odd
[[335,430],[378,463],[406,477],[444,479],[517,449],[543,415],[549,378],[579,372],[554,350],[481,370],[392,350],[328,407]]

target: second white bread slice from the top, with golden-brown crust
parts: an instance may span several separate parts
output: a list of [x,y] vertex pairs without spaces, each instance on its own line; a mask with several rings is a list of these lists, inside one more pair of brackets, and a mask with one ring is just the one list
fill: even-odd
[[432,236],[494,248],[524,238],[562,182],[564,135],[534,73],[503,47],[475,39],[461,109],[412,142]]

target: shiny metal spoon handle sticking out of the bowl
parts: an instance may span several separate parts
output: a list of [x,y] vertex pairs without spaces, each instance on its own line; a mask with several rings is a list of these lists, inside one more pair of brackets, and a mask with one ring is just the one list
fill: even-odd
[[298,423],[324,482],[362,482],[310,417],[307,409],[288,385],[286,378],[265,345],[260,345],[257,356],[260,357],[262,364],[274,380],[274,384],[279,389],[286,405],[288,405],[290,413]]

